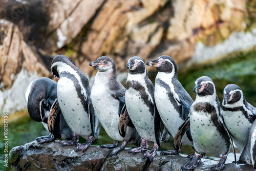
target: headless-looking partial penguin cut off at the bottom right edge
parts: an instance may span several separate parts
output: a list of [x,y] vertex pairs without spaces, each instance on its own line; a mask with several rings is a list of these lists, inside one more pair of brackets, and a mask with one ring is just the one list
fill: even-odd
[[250,164],[256,171],[256,121],[250,127],[247,142],[238,163]]

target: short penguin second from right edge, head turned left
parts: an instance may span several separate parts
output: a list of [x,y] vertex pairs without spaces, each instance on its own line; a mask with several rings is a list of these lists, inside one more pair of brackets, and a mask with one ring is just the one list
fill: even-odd
[[253,106],[245,100],[243,91],[236,84],[228,84],[223,91],[222,110],[227,129],[243,152],[251,124],[256,118]]

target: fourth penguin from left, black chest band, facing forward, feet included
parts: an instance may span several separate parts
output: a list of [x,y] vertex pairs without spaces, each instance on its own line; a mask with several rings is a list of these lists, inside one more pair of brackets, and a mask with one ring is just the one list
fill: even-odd
[[167,142],[169,139],[159,113],[156,108],[154,99],[154,86],[146,73],[144,61],[137,56],[129,59],[126,68],[129,70],[125,103],[129,116],[142,138],[140,147],[133,148],[129,151],[132,155],[147,151],[148,141],[153,141],[154,146],[151,151],[144,153],[143,158],[151,161],[157,154],[161,141]]

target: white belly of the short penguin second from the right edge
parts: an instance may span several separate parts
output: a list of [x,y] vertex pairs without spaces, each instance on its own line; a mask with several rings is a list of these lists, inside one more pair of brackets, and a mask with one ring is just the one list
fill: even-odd
[[234,143],[242,152],[247,142],[247,137],[251,127],[250,122],[241,111],[223,111],[223,118]]

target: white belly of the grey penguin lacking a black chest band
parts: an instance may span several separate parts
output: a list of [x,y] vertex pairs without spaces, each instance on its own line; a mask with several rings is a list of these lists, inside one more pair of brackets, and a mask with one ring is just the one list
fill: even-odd
[[119,134],[119,101],[114,99],[104,86],[93,85],[91,99],[96,116],[106,133],[113,140],[123,141]]

